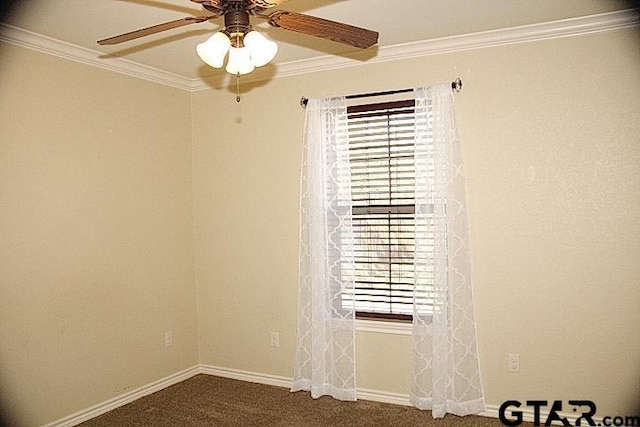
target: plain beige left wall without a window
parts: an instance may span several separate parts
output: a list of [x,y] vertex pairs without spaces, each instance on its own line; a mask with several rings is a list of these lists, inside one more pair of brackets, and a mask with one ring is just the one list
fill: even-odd
[[198,363],[190,95],[0,66],[0,414],[36,426]]

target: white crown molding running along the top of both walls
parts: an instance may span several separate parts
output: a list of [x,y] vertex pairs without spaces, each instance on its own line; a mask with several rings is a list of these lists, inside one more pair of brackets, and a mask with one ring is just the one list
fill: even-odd
[[[278,64],[276,72],[271,78],[295,76],[318,71],[354,67],[362,64],[375,64],[441,53],[551,40],[638,26],[640,26],[640,14],[634,9],[625,9],[539,24],[443,37],[395,46],[384,46],[378,49],[378,53],[374,58],[366,61],[332,55],[300,61],[290,61]],[[76,46],[3,23],[0,23],[0,41],[187,91],[210,89],[212,85],[217,87],[224,86],[224,82],[226,81],[226,75],[209,79],[187,78],[124,58],[105,55],[102,52]],[[264,78],[264,74],[256,71],[246,76],[246,81],[257,81]]]

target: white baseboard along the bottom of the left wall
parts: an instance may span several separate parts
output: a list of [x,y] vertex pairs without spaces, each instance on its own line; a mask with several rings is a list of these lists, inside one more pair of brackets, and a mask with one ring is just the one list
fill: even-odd
[[198,375],[199,373],[201,373],[200,366],[193,366],[173,375],[164,377],[158,381],[154,381],[151,384],[139,387],[135,390],[130,391],[129,393],[123,394],[113,399],[109,399],[106,402],[76,412],[75,414],[71,414],[52,423],[45,424],[42,427],[72,427],[78,425],[82,422],[90,420],[91,418],[95,418],[113,409],[119,408],[120,406],[124,406],[127,403],[131,403],[134,400],[140,399],[141,397],[153,394],[169,386],[187,380],[195,375]]

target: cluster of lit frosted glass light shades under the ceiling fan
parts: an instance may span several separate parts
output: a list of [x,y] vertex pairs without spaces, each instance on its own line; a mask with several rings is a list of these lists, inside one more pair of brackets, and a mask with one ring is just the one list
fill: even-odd
[[271,62],[278,52],[278,45],[255,30],[233,33],[231,38],[220,31],[198,44],[196,52],[200,59],[214,68],[222,68],[229,53],[225,70],[229,74],[242,75]]

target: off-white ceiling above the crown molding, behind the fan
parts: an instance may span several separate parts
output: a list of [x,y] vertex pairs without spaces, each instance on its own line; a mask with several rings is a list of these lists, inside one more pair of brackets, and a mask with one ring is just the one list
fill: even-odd
[[[96,43],[174,19],[209,14],[189,0],[17,3],[20,6],[4,18],[5,24],[91,51],[99,58],[123,58],[186,79],[224,74],[204,65],[195,53],[196,44],[221,29],[222,18],[114,46]],[[566,20],[630,9],[633,5],[632,0],[289,0],[278,7],[379,31],[378,45],[359,53],[328,40],[271,28],[255,17],[252,24],[278,43],[278,55],[267,66],[277,69],[327,55],[372,60],[386,47]]]

